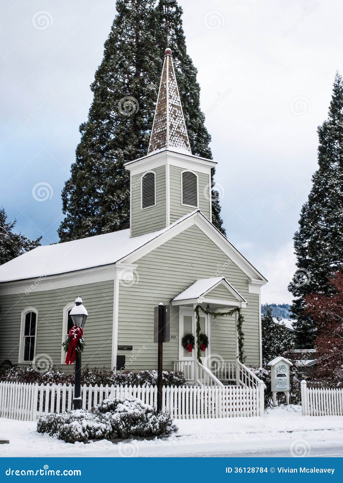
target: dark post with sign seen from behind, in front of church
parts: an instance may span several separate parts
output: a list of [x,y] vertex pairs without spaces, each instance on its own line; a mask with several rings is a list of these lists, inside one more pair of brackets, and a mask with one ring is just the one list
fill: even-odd
[[154,310],[154,342],[157,342],[157,412],[162,409],[163,342],[170,341],[170,305],[162,302]]

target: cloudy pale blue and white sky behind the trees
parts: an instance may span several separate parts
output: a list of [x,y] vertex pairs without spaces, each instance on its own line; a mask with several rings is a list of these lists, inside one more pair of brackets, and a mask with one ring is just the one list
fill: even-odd
[[[289,302],[292,237],[316,169],[316,128],[327,116],[335,71],[343,71],[343,4],[179,3],[228,238],[268,278],[262,301]],[[2,0],[0,8],[0,205],[18,231],[43,234],[49,244],[58,240],[60,192],[115,2]]]

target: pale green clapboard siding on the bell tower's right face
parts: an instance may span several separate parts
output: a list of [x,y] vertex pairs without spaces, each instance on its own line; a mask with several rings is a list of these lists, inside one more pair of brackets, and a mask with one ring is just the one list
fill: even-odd
[[[178,220],[187,213],[191,213],[197,208],[183,206],[181,204],[181,173],[182,168],[170,166],[170,199],[171,199],[171,223]],[[197,173],[199,178],[199,209],[208,219],[210,219],[210,200],[208,195],[209,176],[208,174]]]

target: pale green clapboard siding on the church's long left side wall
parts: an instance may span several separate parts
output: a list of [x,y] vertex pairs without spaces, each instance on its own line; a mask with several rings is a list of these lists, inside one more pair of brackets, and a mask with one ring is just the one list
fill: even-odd
[[[113,327],[113,281],[1,297],[0,362],[18,364],[21,312],[38,310],[36,358],[52,358],[61,364],[63,308],[81,296],[88,311],[84,328],[85,350],[82,364],[90,368],[111,368]],[[74,370],[63,365],[63,371]]]

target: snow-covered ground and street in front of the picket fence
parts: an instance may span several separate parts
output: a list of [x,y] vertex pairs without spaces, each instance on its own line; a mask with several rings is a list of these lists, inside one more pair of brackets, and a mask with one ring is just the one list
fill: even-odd
[[175,420],[168,439],[112,444],[65,443],[37,433],[36,423],[0,418],[0,456],[343,456],[343,416],[302,416],[298,406],[263,417]]

